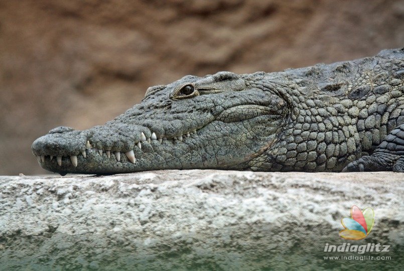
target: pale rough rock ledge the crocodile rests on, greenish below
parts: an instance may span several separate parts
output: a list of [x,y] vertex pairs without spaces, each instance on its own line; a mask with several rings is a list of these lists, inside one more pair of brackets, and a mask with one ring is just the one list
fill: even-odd
[[[2,269],[399,269],[404,174],[155,171],[0,177]],[[363,240],[338,236],[372,207]],[[389,252],[324,252],[326,243]],[[324,256],[391,260],[324,260]],[[401,265],[402,266],[402,265]]]

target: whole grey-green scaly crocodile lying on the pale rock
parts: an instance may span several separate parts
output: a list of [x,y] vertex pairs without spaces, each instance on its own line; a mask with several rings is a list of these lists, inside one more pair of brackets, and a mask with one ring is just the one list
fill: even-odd
[[403,172],[403,123],[401,48],[276,73],[185,76],[149,88],[140,104],[102,126],[55,128],[32,151],[44,169],[62,175]]

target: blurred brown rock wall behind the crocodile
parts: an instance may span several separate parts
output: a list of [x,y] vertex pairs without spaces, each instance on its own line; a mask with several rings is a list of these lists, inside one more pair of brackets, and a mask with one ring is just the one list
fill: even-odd
[[220,70],[279,71],[404,46],[404,1],[3,0],[0,175],[45,173],[31,143]]

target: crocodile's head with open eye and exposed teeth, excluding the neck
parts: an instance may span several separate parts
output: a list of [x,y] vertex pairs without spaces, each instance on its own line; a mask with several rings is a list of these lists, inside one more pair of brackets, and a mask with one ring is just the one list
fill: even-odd
[[102,126],[52,129],[32,144],[33,154],[61,175],[247,169],[274,144],[287,112],[285,100],[254,78],[219,72],[150,87],[140,104]]

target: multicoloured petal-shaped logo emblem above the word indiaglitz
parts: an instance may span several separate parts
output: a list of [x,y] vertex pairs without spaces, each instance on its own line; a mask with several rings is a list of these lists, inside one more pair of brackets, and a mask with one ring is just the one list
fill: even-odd
[[342,218],[341,224],[345,229],[339,232],[339,236],[348,240],[362,240],[373,228],[374,211],[372,208],[366,208],[362,212],[358,206],[353,205],[351,218]]

